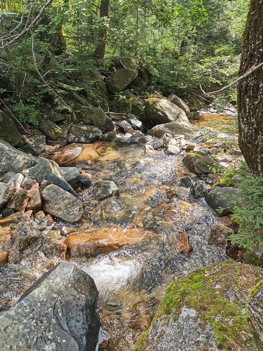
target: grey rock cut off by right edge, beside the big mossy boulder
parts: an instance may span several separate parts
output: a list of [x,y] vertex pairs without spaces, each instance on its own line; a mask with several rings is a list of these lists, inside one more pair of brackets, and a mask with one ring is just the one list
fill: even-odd
[[247,307],[252,328],[263,342],[263,281],[251,290],[247,299]]

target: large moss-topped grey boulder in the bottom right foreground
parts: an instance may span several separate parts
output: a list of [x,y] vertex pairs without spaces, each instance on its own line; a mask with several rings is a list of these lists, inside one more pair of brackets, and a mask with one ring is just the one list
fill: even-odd
[[134,351],[260,350],[244,314],[262,277],[262,269],[229,260],[172,283]]

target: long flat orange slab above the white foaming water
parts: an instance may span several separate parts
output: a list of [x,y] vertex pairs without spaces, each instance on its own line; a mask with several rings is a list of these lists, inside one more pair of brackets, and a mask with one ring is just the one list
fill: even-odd
[[65,244],[69,248],[71,258],[95,257],[118,250],[124,245],[138,244],[144,239],[156,236],[152,231],[142,228],[92,228],[70,234],[65,239]]

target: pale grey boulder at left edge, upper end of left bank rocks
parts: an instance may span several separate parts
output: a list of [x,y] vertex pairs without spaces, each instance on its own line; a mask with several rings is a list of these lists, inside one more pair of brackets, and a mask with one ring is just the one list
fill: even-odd
[[23,169],[34,166],[38,161],[2,139],[0,139],[0,160],[0,173],[22,172]]

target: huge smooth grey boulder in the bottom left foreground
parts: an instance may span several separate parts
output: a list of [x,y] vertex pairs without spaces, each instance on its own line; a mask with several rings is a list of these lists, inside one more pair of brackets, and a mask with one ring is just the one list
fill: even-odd
[[0,316],[0,349],[94,351],[97,298],[89,275],[74,263],[60,263]]

